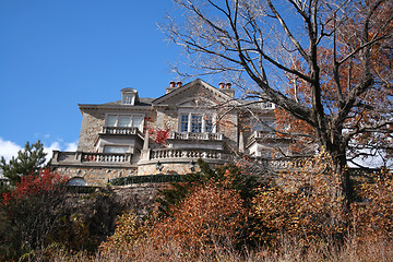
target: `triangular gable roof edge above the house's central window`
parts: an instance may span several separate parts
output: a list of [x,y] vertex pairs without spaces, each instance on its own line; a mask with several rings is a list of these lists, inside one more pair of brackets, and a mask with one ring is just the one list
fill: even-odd
[[165,94],[165,95],[154,99],[152,102],[152,104],[155,105],[155,106],[156,105],[167,105],[167,103],[171,98],[174,98],[174,97],[176,97],[176,96],[178,96],[178,95],[180,95],[180,94],[182,94],[184,92],[188,92],[188,91],[190,91],[191,88],[193,88],[195,86],[201,86],[201,87],[207,90],[209,92],[214,94],[216,97],[221,98],[223,102],[228,102],[228,100],[233,99],[233,97],[230,97],[228,94],[222,92],[221,90],[217,90],[217,88],[213,87],[212,85],[207,84],[206,82],[204,82],[201,79],[196,79],[196,80],[194,80],[194,81],[192,81],[192,82],[190,82],[188,84],[184,84],[184,85],[182,85],[180,87],[177,87],[176,90],[174,90],[172,92],[170,92],[168,94]]

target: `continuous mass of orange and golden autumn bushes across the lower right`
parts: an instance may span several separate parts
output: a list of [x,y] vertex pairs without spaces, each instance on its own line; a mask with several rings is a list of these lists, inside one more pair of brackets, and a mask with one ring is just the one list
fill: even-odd
[[330,169],[331,160],[327,153],[321,153],[288,163],[288,170],[259,188],[250,204],[245,204],[231,184],[227,169],[224,179],[190,183],[188,193],[164,217],[153,216],[146,223],[123,215],[116,234],[102,248],[107,255],[116,250],[128,259],[150,252],[156,259],[178,255],[176,260],[198,261],[201,254],[216,258],[223,250],[240,248],[241,252],[245,247],[286,252],[285,245],[295,241],[302,252],[308,250],[305,255],[314,252],[311,247],[392,241],[392,174],[382,170],[358,181],[358,202],[343,212],[340,180]]

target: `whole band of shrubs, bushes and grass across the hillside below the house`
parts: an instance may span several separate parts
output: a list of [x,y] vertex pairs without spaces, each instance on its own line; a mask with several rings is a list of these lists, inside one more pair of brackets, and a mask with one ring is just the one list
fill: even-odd
[[76,193],[47,169],[23,176],[2,195],[1,260],[357,261],[392,254],[388,169],[358,180],[358,202],[343,214],[327,153],[296,160],[263,183],[241,166],[198,163],[200,171],[160,190],[147,216],[122,205],[110,188]]

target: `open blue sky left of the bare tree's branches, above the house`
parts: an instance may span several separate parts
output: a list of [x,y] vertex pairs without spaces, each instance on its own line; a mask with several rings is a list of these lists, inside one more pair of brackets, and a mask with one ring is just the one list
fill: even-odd
[[163,95],[181,50],[157,24],[171,0],[0,0],[0,156],[27,141],[74,150],[78,104]]

